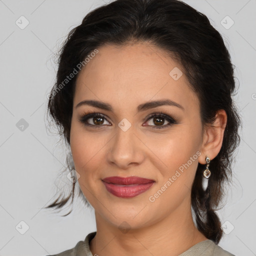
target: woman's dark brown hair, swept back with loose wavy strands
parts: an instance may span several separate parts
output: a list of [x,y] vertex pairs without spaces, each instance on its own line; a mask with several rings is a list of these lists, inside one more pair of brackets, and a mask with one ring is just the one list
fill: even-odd
[[[218,243],[222,229],[215,211],[222,200],[223,182],[230,181],[233,153],[240,141],[238,128],[241,121],[231,98],[235,82],[229,52],[220,33],[204,14],[179,0],[115,0],[90,11],[63,42],[56,82],[48,100],[48,112],[59,128],[59,134],[70,145],[77,75],[61,89],[58,86],[63,85],[66,76],[74,72],[77,64],[96,48],[105,44],[125,45],[139,41],[150,42],[179,61],[191,89],[199,98],[202,124],[212,124],[218,109],[226,111],[223,142],[219,153],[210,162],[208,187],[203,191],[202,170],[205,166],[198,163],[191,190],[193,216],[198,230]],[[70,162],[67,157],[68,170],[72,171]],[[73,202],[75,183],[69,196],[61,199],[58,196],[47,208],[60,208],[70,198]],[[79,195],[88,203],[80,189]]]

